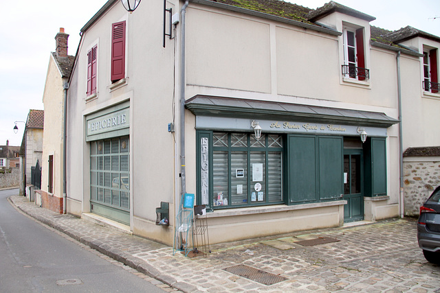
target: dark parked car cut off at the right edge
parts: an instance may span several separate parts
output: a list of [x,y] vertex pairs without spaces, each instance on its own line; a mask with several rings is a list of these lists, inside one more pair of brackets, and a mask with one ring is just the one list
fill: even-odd
[[417,240],[426,260],[440,264],[440,186],[420,207]]

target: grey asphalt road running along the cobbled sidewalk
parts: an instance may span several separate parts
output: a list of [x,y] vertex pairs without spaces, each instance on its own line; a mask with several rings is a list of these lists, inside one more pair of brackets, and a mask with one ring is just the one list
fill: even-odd
[[0,191],[0,292],[164,292],[19,213]]

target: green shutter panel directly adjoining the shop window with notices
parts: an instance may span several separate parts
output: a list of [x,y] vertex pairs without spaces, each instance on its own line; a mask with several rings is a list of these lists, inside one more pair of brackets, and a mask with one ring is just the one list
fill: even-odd
[[316,137],[290,135],[289,203],[316,202]]

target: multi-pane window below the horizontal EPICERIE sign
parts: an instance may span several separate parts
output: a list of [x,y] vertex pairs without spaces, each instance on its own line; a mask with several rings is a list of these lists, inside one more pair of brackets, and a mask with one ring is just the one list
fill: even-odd
[[91,142],[91,201],[128,210],[130,195],[129,138]]

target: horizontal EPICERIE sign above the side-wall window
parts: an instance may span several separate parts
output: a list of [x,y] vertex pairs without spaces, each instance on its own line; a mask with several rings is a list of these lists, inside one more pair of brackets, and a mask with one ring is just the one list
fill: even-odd
[[87,120],[87,135],[129,127],[129,108]]

